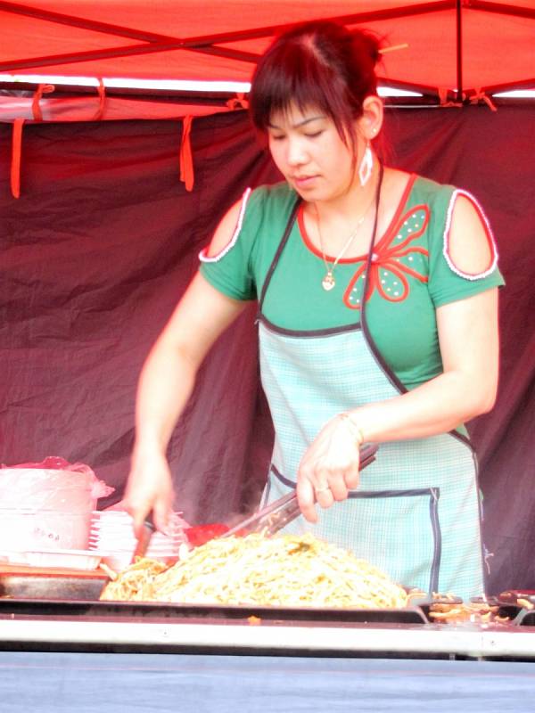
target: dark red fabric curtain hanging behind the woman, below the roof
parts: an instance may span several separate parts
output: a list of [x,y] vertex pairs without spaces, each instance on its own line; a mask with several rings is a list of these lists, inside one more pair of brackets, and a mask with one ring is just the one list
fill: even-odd
[[[533,110],[387,111],[389,161],[472,191],[494,227],[507,286],[498,406],[473,422],[490,591],[535,588]],[[193,121],[193,193],[179,182],[179,121],[24,128],[21,198],[0,126],[0,459],[62,455],[119,499],[136,378],[221,213],[278,179],[244,112]],[[254,502],[271,430],[258,389],[254,308],[218,342],[169,447],[177,507],[223,520]]]

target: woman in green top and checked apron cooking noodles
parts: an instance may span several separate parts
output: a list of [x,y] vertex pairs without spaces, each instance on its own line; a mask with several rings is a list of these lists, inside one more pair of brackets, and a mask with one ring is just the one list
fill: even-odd
[[[258,299],[276,429],[264,502],[297,488],[319,537],[467,597],[484,586],[463,423],[494,403],[502,279],[471,196],[377,159],[378,57],[373,37],[320,21],[259,61],[251,118],[286,180],[223,217],[152,348],[126,500],[136,527],[151,508],[165,526],[171,432],[210,346]],[[365,441],[381,447],[359,473]]]

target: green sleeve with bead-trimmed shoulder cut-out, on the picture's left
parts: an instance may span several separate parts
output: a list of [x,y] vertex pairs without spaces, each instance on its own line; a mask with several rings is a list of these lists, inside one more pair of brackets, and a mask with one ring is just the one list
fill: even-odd
[[251,250],[258,228],[254,214],[259,203],[261,193],[248,188],[242,201],[222,219],[210,245],[199,255],[202,276],[212,287],[233,299],[256,298]]

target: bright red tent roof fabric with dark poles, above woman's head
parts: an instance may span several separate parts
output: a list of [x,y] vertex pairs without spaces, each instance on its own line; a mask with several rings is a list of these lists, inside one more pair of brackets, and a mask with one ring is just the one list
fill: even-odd
[[535,84],[533,0],[0,2],[0,72],[247,81],[276,29],[325,17],[407,45],[383,55],[390,83],[435,93]]

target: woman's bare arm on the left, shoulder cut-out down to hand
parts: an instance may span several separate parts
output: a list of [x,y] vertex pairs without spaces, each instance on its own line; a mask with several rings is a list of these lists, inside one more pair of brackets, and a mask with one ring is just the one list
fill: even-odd
[[[214,254],[231,241],[240,210],[238,202],[218,225],[210,244]],[[165,448],[204,357],[246,306],[247,302],[227,297],[197,273],[152,346],[137,389],[136,443],[123,498],[136,535],[151,511],[157,529],[165,531],[168,525],[173,484]]]

